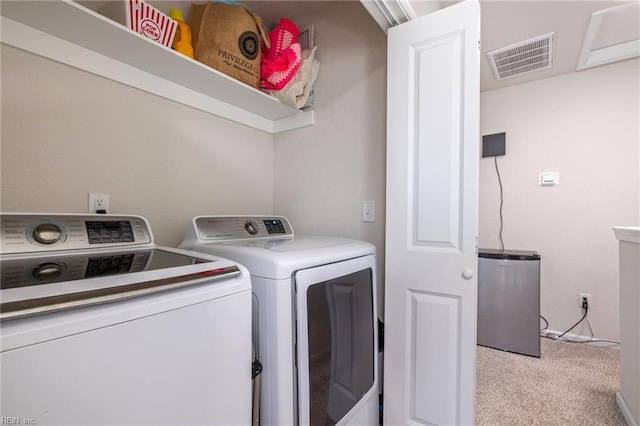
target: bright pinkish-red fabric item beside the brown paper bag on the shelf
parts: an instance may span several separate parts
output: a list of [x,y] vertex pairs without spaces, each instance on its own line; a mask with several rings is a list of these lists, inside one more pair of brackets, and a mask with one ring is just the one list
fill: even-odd
[[269,31],[271,47],[262,46],[260,87],[280,90],[293,78],[302,61],[298,34],[296,24],[287,18]]

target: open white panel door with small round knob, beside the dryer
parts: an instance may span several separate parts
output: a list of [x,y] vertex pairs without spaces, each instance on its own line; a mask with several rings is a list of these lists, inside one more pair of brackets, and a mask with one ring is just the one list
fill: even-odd
[[473,424],[480,5],[388,35],[384,423]]

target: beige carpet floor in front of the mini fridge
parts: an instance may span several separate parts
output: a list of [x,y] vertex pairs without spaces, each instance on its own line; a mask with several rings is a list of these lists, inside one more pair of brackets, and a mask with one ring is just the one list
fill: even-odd
[[626,425],[620,352],[542,339],[540,358],[478,346],[476,424]]

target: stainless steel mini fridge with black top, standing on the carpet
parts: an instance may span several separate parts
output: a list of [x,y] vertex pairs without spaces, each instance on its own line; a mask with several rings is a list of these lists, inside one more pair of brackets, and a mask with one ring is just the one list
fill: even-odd
[[540,357],[540,255],[478,250],[478,344]]

